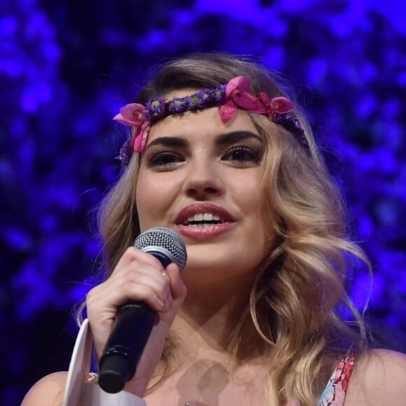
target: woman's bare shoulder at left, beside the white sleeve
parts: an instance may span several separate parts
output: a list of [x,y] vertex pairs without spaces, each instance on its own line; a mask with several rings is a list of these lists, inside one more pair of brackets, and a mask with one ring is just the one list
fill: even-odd
[[40,379],[25,395],[21,406],[60,406],[68,372],[55,372]]

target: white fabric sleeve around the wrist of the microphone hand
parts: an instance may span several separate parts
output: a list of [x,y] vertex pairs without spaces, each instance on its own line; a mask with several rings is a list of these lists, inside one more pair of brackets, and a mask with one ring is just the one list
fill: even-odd
[[97,384],[87,384],[91,358],[92,335],[86,318],[73,347],[62,406],[146,406],[144,399],[132,393],[107,393]]

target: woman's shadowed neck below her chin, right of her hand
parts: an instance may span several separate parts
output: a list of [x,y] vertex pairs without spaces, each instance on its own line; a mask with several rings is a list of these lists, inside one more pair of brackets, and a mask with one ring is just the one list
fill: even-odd
[[[187,277],[187,276],[186,276]],[[249,295],[253,274],[219,281],[187,281],[188,295],[173,325],[187,353],[193,356],[227,356],[232,361],[255,358],[263,342],[249,315]],[[240,327],[240,328],[239,328]],[[241,328],[242,327],[242,328]],[[236,331],[241,331],[238,351]]]

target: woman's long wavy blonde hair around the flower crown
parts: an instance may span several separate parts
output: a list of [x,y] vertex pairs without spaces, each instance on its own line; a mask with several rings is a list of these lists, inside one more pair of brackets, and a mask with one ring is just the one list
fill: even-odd
[[[136,102],[185,88],[203,89],[248,76],[251,92],[269,97],[289,94],[275,73],[245,57],[196,54],[162,65],[141,88]],[[297,104],[295,104],[297,106]],[[265,116],[249,113],[265,139],[262,207],[264,225],[276,246],[258,269],[246,318],[235,330],[230,351],[238,351],[241,329],[251,317],[269,348],[269,405],[297,398],[313,406],[331,368],[345,353],[367,348],[365,326],[344,290],[346,255],[370,265],[360,248],[346,237],[345,211],[304,115],[295,108],[309,149],[293,134]],[[135,188],[140,156],[133,154],[116,186],[99,210],[104,269],[109,277],[125,249],[139,234]],[[354,330],[337,315],[337,304],[353,314]],[[171,339],[162,356],[169,372],[176,351]],[[160,370],[162,376],[162,369]]]

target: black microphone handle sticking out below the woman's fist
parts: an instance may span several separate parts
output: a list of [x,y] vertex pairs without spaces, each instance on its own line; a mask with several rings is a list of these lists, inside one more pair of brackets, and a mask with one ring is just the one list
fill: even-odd
[[122,391],[134,377],[157,312],[141,301],[121,306],[99,361],[99,386],[108,393]]

